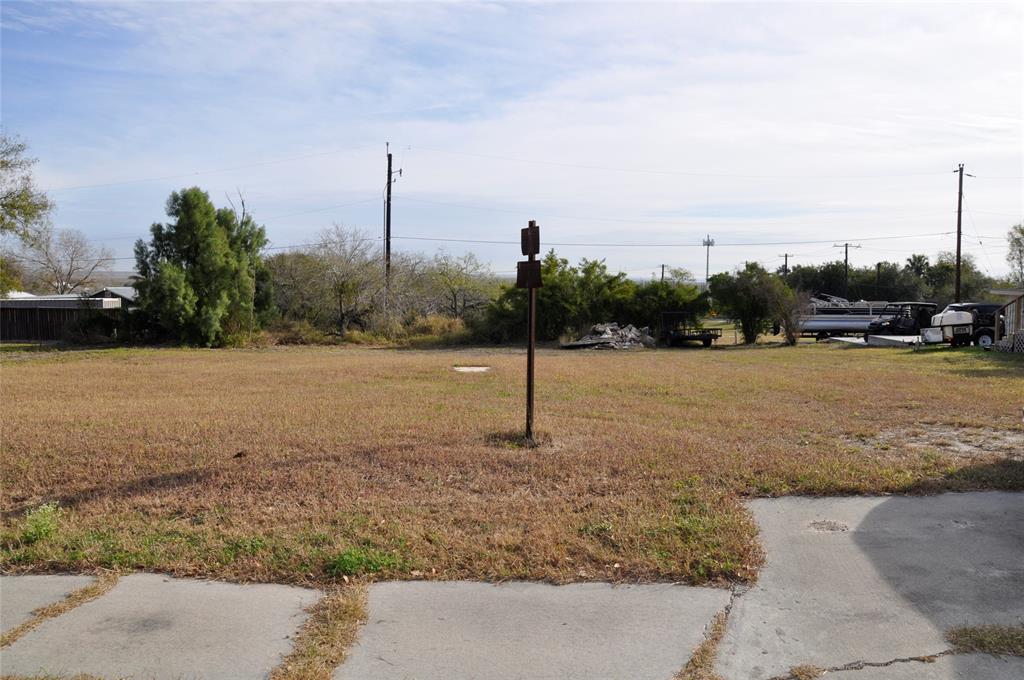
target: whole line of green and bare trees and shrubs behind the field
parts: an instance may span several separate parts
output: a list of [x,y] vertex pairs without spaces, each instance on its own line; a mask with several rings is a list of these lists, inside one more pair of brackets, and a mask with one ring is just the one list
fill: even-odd
[[[25,144],[0,138],[0,294],[16,288],[75,293],[108,268],[108,251],[79,232],[57,230],[48,220],[52,203],[32,182]],[[425,256],[399,253],[385,277],[378,240],[334,225],[310,245],[267,249],[264,228],[246,208],[217,208],[199,187],[171,194],[169,220],[155,223],[135,244],[138,308],[125,314],[121,337],[143,342],[203,346],[241,344],[264,329],[300,342],[387,339],[426,334],[483,342],[509,342],[525,332],[525,291],[495,277],[473,254]],[[1024,225],[1008,233],[1011,278],[997,282],[974,257],[962,261],[965,300],[983,299],[1000,283],[1024,286]],[[715,274],[707,290],[688,272],[638,282],[608,269],[603,260],[577,265],[554,251],[542,260],[538,293],[542,340],[574,337],[595,323],[615,321],[655,331],[663,311],[733,318],[753,342],[773,326],[795,341],[796,314],[811,294],[852,300],[953,298],[955,260],[911,255],[902,262],[851,267],[843,262],[797,265],[768,271],[744,263]]]

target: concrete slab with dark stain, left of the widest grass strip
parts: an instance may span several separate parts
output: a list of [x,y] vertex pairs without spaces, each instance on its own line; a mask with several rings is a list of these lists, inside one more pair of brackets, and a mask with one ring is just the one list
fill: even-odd
[[145,680],[266,678],[319,593],[127,576],[0,652],[5,674]]

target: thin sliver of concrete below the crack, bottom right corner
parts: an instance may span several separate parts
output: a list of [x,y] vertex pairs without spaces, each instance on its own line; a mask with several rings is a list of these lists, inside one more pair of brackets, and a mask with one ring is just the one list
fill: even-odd
[[885,668],[829,673],[829,680],[1020,680],[1024,658],[965,654],[943,656],[932,664],[908,662]]

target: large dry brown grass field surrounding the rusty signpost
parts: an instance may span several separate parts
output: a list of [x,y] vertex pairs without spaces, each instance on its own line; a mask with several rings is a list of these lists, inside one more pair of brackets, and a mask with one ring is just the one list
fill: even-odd
[[523,373],[519,350],[5,353],[0,568],[743,581],[744,497],[1024,488],[1007,356],[544,350],[535,450]]

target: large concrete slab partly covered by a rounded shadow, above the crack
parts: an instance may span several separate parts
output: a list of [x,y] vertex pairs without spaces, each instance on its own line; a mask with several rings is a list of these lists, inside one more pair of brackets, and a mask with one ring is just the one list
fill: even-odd
[[1024,622],[1024,494],[750,507],[768,561],[733,605],[718,657],[727,680],[937,653],[948,628]]

